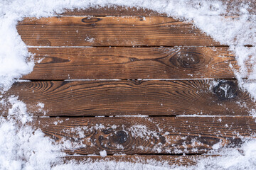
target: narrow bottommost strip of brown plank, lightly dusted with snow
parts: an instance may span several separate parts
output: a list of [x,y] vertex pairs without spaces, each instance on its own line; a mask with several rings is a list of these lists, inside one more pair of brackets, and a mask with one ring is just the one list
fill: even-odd
[[166,166],[193,166],[200,159],[206,159],[209,157],[216,157],[215,155],[112,155],[107,157],[100,156],[67,156],[64,157],[65,163],[73,162],[131,162],[137,164],[152,164],[152,165],[166,165]]

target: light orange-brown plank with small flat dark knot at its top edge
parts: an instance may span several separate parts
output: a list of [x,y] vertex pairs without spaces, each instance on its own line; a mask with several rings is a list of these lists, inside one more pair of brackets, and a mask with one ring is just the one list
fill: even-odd
[[167,17],[24,18],[18,33],[34,46],[218,46],[192,23]]

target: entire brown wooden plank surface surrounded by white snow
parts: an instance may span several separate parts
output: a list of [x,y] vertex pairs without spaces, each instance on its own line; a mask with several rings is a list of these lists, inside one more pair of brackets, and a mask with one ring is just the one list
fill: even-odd
[[[238,1],[223,2],[241,14],[233,10]],[[154,159],[188,166],[208,151],[255,138],[248,116],[255,102],[230,69],[239,69],[235,56],[192,23],[110,6],[25,18],[17,29],[36,66],[23,77],[31,81],[5,95],[26,103],[33,126],[46,136],[71,141],[65,162]],[[107,157],[87,155],[102,150]]]

